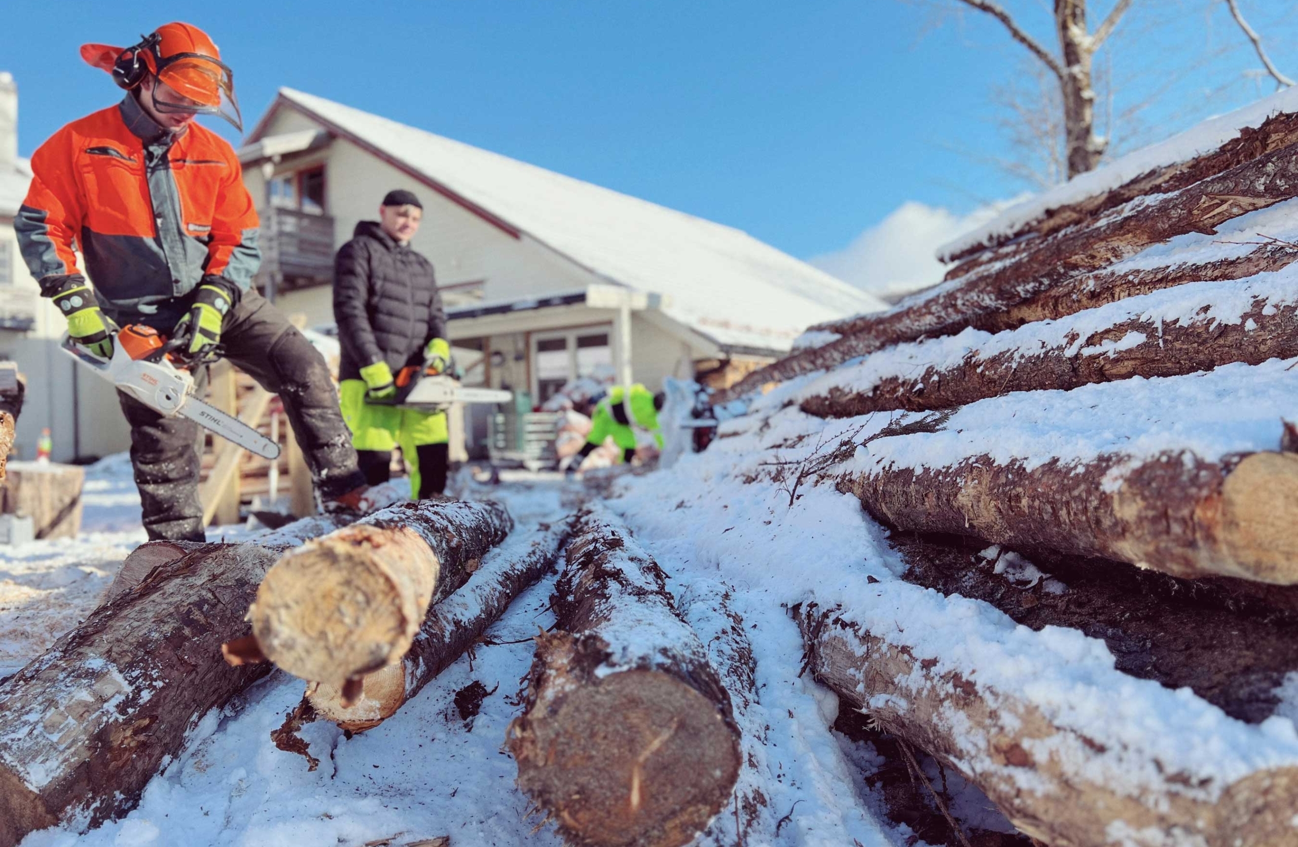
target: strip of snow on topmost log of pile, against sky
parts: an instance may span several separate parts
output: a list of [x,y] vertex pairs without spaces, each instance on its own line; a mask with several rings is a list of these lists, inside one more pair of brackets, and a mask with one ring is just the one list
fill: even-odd
[[1131,152],[1121,158],[1115,158],[1094,170],[1073,177],[1063,184],[1028,197],[985,225],[942,244],[937,249],[937,257],[942,261],[950,261],[951,257],[967,249],[1011,236],[1028,223],[1045,217],[1051,209],[1081,203],[1112,191],[1155,168],[1167,168],[1211,153],[1240,135],[1241,130],[1255,129],[1275,114],[1290,112],[1298,112],[1298,87],[1277,91],[1242,109],[1203,121],[1164,142]]

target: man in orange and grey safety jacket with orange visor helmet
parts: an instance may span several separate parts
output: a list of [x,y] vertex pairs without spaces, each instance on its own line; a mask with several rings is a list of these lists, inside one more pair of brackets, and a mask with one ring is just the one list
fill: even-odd
[[[205,362],[232,361],[280,396],[322,500],[356,508],[365,477],[328,366],[252,287],[258,222],[239,158],[195,123],[214,114],[241,129],[217,45],[195,26],[167,23],[132,47],[80,53],[126,96],[31,157],[14,230],[42,294],[67,318],[70,340],[100,359],[112,356],[119,326],[143,323],[184,339],[200,388]],[[119,401],[149,538],[202,540],[197,425],[121,392]]]

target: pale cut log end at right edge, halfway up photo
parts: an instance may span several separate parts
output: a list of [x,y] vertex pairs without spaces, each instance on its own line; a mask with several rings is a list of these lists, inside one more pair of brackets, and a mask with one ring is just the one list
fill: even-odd
[[1298,455],[1253,453],[1221,486],[1221,546],[1240,574],[1298,583]]

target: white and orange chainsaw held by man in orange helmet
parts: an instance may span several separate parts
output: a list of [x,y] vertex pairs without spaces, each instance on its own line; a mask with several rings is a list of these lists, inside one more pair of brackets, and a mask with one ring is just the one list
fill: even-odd
[[251,453],[262,459],[279,459],[279,444],[239,418],[193,396],[193,375],[177,368],[170,359],[170,353],[182,343],[183,339],[167,342],[152,326],[132,323],[117,331],[113,357],[108,361],[78,349],[67,335],[64,335],[62,347],[78,362],[117,386],[118,391],[158,414],[187,417]]

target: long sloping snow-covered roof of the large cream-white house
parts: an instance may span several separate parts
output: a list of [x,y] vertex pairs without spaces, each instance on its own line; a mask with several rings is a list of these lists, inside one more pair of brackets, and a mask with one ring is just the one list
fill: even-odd
[[292,88],[279,94],[276,105],[287,103],[382,151],[607,281],[666,295],[668,317],[722,347],[787,351],[811,323],[885,308],[740,230],[324,97]]

